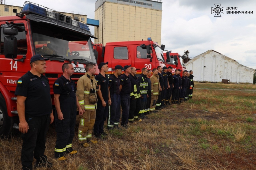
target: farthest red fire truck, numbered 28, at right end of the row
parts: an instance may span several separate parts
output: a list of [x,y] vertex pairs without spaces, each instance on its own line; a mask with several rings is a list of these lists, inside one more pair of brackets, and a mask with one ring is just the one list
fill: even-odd
[[[169,60],[168,60],[168,53],[169,53]],[[180,76],[182,77],[182,72],[185,70],[185,65],[183,63],[183,59],[182,57],[178,54],[178,53],[170,53],[169,51],[167,51],[166,53],[164,53],[164,59],[166,61],[166,67],[168,68],[169,66],[171,66],[172,69],[172,74],[175,74],[175,70],[180,69],[181,73]]]

